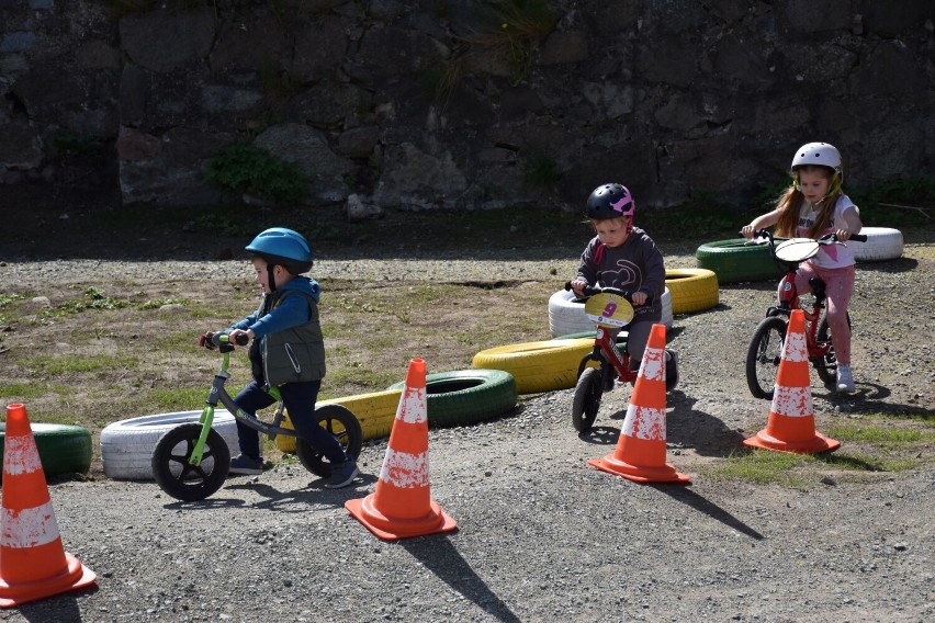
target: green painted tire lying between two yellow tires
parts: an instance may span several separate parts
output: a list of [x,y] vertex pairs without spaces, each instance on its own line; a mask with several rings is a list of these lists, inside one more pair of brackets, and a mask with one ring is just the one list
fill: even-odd
[[[402,389],[395,383],[387,389]],[[426,376],[426,410],[430,428],[472,424],[516,407],[516,381],[503,370],[471,369]]]

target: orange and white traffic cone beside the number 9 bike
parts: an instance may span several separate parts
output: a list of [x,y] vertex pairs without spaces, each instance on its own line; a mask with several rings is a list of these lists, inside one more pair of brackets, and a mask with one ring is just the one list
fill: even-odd
[[665,462],[665,325],[650,332],[617,449],[588,465],[641,484],[689,482]]

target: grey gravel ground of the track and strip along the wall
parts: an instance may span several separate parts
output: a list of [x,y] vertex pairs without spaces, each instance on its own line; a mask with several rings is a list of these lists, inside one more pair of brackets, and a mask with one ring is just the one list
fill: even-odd
[[[694,258],[668,254],[667,264],[692,267]],[[392,274],[514,281],[568,267],[414,260],[395,262]],[[244,269],[8,263],[0,283],[82,281],[102,270],[174,280]],[[385,260],[316,268],[323,277],[387,272]],[[860,265],[852,305],[859,392],[830,395],[813,376],[819,430],[865,414],[933,412],[933,283],[931,245]],[[725,285],[717,308],[676,316],[669,346],[681,383],[668,399],[667,458],[689,486],[641,486],[586,464],[615,450],[623,388],[605,397],[587,437],[571,427],[571,389],[525,397],[511,417],[431,431],[431,495],[458,522],[444,535],[383,542],[345,510],[373,491],[385,440],[365,445],[357,485],[336,491],[297,466],[232,478],[190,505],[151,483],[53,483],[66,550],[98,573],[98,587],[0,611],[0,621],[931,621],[933,469],[855,476],[830,464],[808,490],[699,475],[766,423],[769,405],[751,398],[742,360],[773,295],[767,283]]]

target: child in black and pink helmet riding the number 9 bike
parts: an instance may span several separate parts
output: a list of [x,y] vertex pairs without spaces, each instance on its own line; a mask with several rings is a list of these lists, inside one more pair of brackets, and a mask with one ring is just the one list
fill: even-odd
[[[630,366],[638,370],[646,349],[650,330],[662,320],[665,264],[650,236],[633,227],[637,204],[623,184],[601,184],[592,191],[585,216],[597,234],[582,253],[572,288],[578,297],[593,285],[617,287],[631,293],[633,320],[627,327]],[[666,350],[666,387],[678,381],[676,353]]]

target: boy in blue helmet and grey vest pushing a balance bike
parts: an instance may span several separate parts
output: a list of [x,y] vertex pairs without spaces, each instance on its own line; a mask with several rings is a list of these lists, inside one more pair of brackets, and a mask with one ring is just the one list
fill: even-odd
[[[315,401],[325,376],[325,341],[318,322],[318,283],[302,273],[312,269],[312,249],[297,231],[273,227],[247,246],[254,258],[257,283],[263,288],[259,308],[230,326],[230,341],[239,335],[252,340],[250,364],[254,381],[234,401],[250,415],[275,399],[266,388],[279,387],[296,433],[331,463],[326,487],[345,487],[359,474],[354,457],[315,418]],[[206,342],[210,343],[210,342]],[[259,432],[237,422],[240,454],[230,461],[233,474],[261,474]]]

